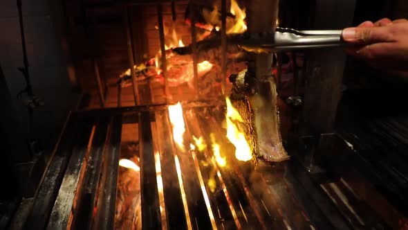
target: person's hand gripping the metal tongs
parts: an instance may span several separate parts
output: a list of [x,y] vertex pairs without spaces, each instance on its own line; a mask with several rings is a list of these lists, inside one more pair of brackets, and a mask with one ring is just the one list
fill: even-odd
[[372,67],[408,73],[408,20],[365,21],[343,30],[344,41],[355,44],[349,55],[367,61]]

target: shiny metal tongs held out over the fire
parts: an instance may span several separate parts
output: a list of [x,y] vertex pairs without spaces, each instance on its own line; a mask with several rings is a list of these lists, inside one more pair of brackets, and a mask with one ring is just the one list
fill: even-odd
[[[342,30],[294,30],[292,28],[276,28],[271,39],[257,39],[252,41],[252,48],[261,51],[277,52],[303,48],[326,48],[342,46],[346,42],[342,39]],[[248,47],[248,44],[244,44]],[[250,45],[251,46],[251,45]]]

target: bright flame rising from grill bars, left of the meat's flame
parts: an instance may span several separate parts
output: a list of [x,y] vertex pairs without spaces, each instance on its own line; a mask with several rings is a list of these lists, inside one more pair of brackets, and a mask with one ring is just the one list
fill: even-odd
[[183,134],[185,132],[185,124],[183,119],[183,108],[180,102],[176,105],[169,105],[169,118],[173,127],[173,139],[181,150],[184,150]]

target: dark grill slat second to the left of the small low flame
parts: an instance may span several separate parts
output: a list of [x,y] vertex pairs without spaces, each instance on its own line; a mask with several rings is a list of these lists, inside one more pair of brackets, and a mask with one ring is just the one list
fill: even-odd
[[102,152],[108,130],[108,118],[101,118],[95,130],[95,136],[86,159],[84,177],[78,185],[76,202],[71,211],[71,224],[67,229],[89,229],[92,222],[93,207],[95,206],[95,196],[99,181],[100,168],[102,164]]

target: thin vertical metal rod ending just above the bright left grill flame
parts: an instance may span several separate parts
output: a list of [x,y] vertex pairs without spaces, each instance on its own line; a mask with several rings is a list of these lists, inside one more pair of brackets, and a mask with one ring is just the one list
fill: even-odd
[[163,78],[165,78],[165,96],[169,96],[169,80],[167,79],[167,61],[165,48],[165,30],[163,27],[163,9],[160,3],[157,4],[157,22],[158,33],[160,36],[160,51],[162,53],[160,69],[162,70]]

